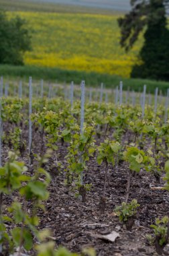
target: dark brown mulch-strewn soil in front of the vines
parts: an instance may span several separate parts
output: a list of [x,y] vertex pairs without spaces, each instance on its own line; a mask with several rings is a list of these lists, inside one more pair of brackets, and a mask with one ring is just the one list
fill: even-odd
[[[36,148],[40,148],[36,134],[33,139],[33,148],[36,152]],[[5,155],[5,150],[3,154]],[[65,155],[66,144],[62,146],[60,143],[58,160],[62,161],[63,166],[66,166]],[[25,156],[23,160],[27,162],[27,157]],[[129,201],[137,199],[140,207],[132,231],[129,232],[113,212],[116,205],[125,201],[127,185],[125,163],[115,167],[109,165],[105,214],[99,211],[105,166],[104,164],[99,166],[96,157],[89,161],[88,171],[84,177],[84,183],[91,183],[91,191],[87,193],[85,203],[76,198],[74,192],[64,185],[64,168],[58,173],[57,168],[52,167],[52,160],[45,168],[50,172],[52,181],[46,212],[40,212],[40,229],[49,228],[52,231],[52,239],[56,242],[56,247],[62,245],[72,252],[80,252],[83,247],[94,247],[98,256],[156,255],[155,248],[146,241],[146,234],[152,234],[150,224],[154,224],[156,218],[169,214],[169,193],[151,189],[154,186],[161,186],[164,183],[162,178],[160,184],[157,184],[154,176],[146,171],[133,178]],[[97,237],[112,231],[119,233],[119,238],[113,243]],[[169,245],[165,247],[164,255],[169,255]]]

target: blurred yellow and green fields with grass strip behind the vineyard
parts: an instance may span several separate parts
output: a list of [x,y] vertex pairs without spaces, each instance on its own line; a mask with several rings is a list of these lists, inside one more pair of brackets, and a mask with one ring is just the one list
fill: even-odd
[[0,65],[0,73],[9,77],[27,77],[76,84],[117,86],[123,79],[125,88],[139,90],[145,83],[150,91],[156,86],[168,88],[166,82],[129,77],[138,63],[142,36],[129,53],[119,45],[117,18],[122,12],[25,0],[0,0],[9,18],[19,15],[27,21],[32,34],[32,51],[24,55],[25,66]]

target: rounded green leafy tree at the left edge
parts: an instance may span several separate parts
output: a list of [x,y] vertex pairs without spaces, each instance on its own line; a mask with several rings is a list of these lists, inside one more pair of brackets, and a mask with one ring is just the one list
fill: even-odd
[[18,16],[7,19],[0,11],[0,63],[23,65],[23,53],[31,50],[31,36]]

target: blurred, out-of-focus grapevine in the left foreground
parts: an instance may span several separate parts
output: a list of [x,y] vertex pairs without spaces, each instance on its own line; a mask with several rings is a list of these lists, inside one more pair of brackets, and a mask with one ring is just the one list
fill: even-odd
[[[36,228],[39,224],[37,211],[39,207],[44,208],[42,201],[48,199],[47,187],[50,182],[50,175],[40,166],[47,161],[47,157],[48,154],[40,158],[39,166],[34,170],[32,177],[27,176],[27,168],[23,162],[17,162],[17,156],[13,152],[9,152],[9,160],[0,168],[0,234],[1,248],[4,252],[13,253],[17,247],[18,255],[21,255],[23,248],[27,251],[32,249],[34,236],[40,240],[40,232]],[[42,175],[43,181],[39,179]],[[23,203],[16,197],[7,207],[9,214],[6,214],[3,203],[7,195],[14,191],[18,191]],[[32,210],[28,213],[30,199]],[[11,223],[11,230],[6,228],[6,222]]]

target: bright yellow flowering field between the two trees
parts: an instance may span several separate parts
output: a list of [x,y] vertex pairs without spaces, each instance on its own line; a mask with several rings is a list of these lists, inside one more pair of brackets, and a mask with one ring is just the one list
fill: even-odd
[[14,11],[32,30],[25,64],[129,77],[142,39],[131,52],[119,46],[117,15]]

